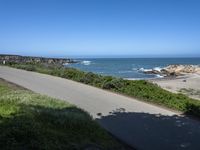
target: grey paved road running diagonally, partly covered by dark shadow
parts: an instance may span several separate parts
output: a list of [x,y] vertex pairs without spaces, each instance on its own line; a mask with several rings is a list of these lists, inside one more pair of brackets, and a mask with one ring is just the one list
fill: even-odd
[[83,108],[139,150],[200,149],[200,122],[175,112],[67,79],[4,66],[0,78]]

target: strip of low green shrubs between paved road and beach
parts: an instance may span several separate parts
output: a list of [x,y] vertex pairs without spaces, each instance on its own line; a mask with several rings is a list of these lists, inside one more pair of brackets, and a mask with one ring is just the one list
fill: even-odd
[[200,117],[200,101],[183,94],[171,93],[148,81],[129,81],[112,76],[101,76],[91,72],[87,73],[73,68],[47,66],[43,64],[8,65],[19,69],[36,71],[82,82]]

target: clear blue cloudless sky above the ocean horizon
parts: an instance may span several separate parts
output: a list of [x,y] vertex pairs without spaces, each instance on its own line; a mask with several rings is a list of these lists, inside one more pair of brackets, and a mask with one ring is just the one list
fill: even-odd
[[200,57],[200,1],[0,0],[0,53]]

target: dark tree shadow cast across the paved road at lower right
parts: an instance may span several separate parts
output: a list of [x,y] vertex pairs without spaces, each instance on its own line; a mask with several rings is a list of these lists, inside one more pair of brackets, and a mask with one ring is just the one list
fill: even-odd
[[97,121],[139,150],[200,149],[200,122],[185,116],[130,113],[120,108]]

